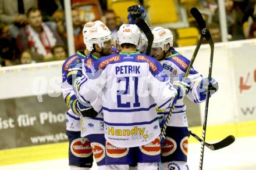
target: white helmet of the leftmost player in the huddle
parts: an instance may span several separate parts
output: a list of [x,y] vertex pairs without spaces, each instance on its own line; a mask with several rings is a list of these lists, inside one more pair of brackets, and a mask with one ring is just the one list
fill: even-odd
[[111,31],[102,21],[90,21],[83,28],[84,44],[86,49],[93,51],[93,44],[104,47],[104,42],[112,39]]

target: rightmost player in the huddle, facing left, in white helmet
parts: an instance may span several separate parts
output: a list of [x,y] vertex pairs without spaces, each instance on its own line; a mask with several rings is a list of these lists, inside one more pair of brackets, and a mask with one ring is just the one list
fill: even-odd
[[[152,30],[152,33],[154,34],[154,41],[151,56],[159,60],[172,82],[173,79],[182,78],[189,67],[190,60],[172,47],[172,32],[162,27],[156,27]],[[191,68],[189,79],[191,85],[187,97],[195,103],[204,102],[208,78],[202,78],[200,73]],[[218,90],[218,83],[212,78],[209,84],[212,95]],[[169,110],[159,110],[158,115],[161,124],[165,122],[164,117],[168,113]],[[183,99],[178,99],[166,129],[165,143],[162,146],[161,160],[163,162],[163,169],[189,169],[187,165],[188,138],[186,105],[183,103]]]

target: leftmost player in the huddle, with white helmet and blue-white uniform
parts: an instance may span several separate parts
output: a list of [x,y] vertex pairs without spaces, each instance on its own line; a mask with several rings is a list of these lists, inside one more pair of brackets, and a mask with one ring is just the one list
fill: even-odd
[[[97,34],[94,34],[97,41],[94,45],[87,44],[86,39],[87,30],[97,29]],[[95,32],[94,32],[95,33]],[[91,107],[90,103],[80,103],[73,91],[72,80],[76,77],[81,77],[85,72],[83,64],[93,63],[98,57],[110,55],[115,52],[111,49],[111,32],[101,21],[88,22],[83,28],[84,43],[87,45],[87,50],[79,51],[75,55],[70,56],[63,64],[62,74],[62,93],[69,110],[66,113],[66,133],[69,137],[69,165],[70,169],[86,170],[90,169],[93,164],[93,153],[99,169],[105,168],[105,149],[104,146],[104,122],[102,114],[98,114],[95,110],[100,112],[100,106],[94,105],[95,110]],[[102,39],[103,37],[103,39]],[[96,45],[97,44],[97,45]],[[102,45],[100,45],[102,44]],[[88,51],[90,54],[88,54]],[[88,56],[85,55],[87,53]],[[91,67],[89,67],[91,69]],[[100,98],[98,98],[100,100]],[[101,103],[101,102],[98,102]],[[95,117],[97,116],[97,117]],[[93,117],[93,118],[87,118]],[[81,126],[80,126],[81,123]],[[97,134],[101,134],[99,142],[94,139]],[[81,137],[80,137],[81,136]],[[87,137],[88,138],[85,138]],[[96,147],[96,149],[95,149]],[[91,148],[93,150],[91,150]],[[105,168],[106,169],[106,168]]]

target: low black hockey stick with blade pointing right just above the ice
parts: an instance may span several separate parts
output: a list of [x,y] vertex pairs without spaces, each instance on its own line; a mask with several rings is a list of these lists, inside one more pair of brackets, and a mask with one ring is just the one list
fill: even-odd
[[[195,135],[195,133],[189,131],[190,135],[192,135],[195,139],[197,139],[199,142],[202,142],[202,139]],[[225,139],[222,139],[221,141],[217,142],[217,143],[207,143],[205,142],[205,146],[207,146],[209,149],[211,150],[218,150],[218,149],[222,149],[223,147],[229,146],[230,144],[232,144],[234,142],[235,138],[233,135],[229,135],[227,136]]]

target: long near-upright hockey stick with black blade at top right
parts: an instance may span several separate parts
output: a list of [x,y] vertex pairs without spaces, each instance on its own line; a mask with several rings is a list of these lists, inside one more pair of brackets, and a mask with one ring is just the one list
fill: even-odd
[[[212,78],[212,62],[214,60],[214,41],[212,41],[211,34],[209,33],[208,29],[205,26],[205,21],[202,18],[201,13],[197,8],[192,8],[190,10],[191,15],[195,18],[195,20],[198,23],[198,26],[200,27],[201,34],[204,36],[205,39],[207,39],[210,47],[211,47],[211,57],[210,57],[210,63],[209,63],[209,74],[208,74],[208,81]],[[200,154],[200,167],[199,169],[202,169],[202,164],[204,161],[204,145],[205,145],[205,135],[206,135],[206,128],[207,128],[207,117],[208,117],[208,106],[209,106],[209,85],[207,88],[207,95],[206,95],[206,102],[205,102],[205,113],[204,113],[204,123],[202,125],[202,141],[201,141],[201,154]]]

